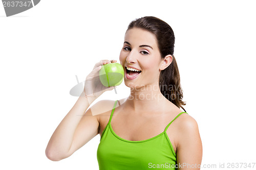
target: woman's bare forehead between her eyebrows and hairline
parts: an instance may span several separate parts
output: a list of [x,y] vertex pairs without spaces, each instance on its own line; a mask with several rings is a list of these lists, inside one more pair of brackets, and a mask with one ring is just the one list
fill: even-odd
[[151,45],[153,48],[157,46],[155,35],[139,28],[127,30],[124,41],[131,43],[131,45]]

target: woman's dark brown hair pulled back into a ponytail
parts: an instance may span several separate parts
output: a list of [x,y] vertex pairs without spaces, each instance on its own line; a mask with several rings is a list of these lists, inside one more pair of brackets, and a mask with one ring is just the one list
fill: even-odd
[[145,16],[133,20],[127,30],[132,28],[140,28],[154,34],[157,38],[157,44],[162,58],[169,54],[173,56],[172,63],[160,72],[159,87],[166,99],[175,104],[178,108],[181,107],[186,111],[182,107],[182,105],[186,104],[182,101],[183,92],[180,85],[180,74],[176,59],[173,55],[175,42],[173,29],[163,20],[153,16]]

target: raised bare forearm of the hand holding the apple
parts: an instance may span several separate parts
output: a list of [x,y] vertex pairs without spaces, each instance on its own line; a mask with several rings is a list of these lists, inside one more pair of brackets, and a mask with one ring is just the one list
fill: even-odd
[[46,155],[51,159],[63,159],[70,155],[70,148],[75,130],[82,118],[82,115],[89,108],[94,99],[86,96],[79,96],[77,102],[62,119],[54,131],[46,148]]

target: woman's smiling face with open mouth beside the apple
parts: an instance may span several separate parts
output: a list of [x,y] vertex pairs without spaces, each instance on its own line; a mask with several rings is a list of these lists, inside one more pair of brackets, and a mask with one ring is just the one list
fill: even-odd
[[[126,86],[140,87],[159,81],[161,54],[154,34],[138,28],[126,31],[119,60]],[[127,67],[141,72],[129,71]]]

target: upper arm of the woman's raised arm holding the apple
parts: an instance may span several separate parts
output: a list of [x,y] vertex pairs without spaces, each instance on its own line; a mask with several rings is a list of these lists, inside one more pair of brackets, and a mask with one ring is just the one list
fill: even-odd
[[82,115],[74,133],[69,155],[72,155],[75,151],[99,134],[99,114],[105,112],[106,108],[104,106],[108,102],[108,100],[99,101]]

